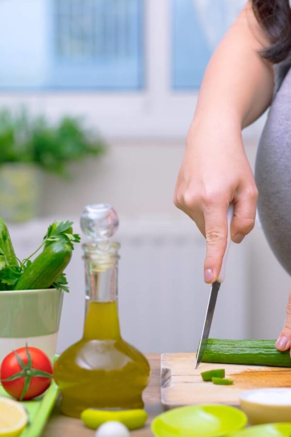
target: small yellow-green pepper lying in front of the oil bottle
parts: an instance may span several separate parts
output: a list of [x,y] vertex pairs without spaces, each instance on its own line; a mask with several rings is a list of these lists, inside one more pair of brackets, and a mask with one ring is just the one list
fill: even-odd
[[116,420],[133,430],[141,428],[146,419],[147,413],[142,409],[111,411],[88,408],[81,413],[81,420],[88,428],[92,429],[97,429],[104,422]]

